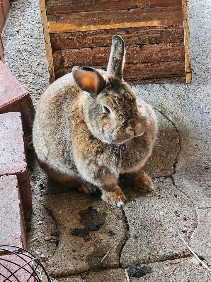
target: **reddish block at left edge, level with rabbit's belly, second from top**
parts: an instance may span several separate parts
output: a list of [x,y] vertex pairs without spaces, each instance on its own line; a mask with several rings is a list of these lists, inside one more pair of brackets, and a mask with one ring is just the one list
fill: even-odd
[[17,176],[23,207],[30,208],[31,186],[23,138],[21,114],[0,114],[0,176]]

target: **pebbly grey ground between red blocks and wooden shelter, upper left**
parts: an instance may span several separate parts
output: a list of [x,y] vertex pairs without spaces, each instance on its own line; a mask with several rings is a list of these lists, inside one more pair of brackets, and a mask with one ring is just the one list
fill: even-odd
[[38,0],[19,0],[10,7],[7,18],[2,38],[4,63],[29,90],[36,107],[49,85]]

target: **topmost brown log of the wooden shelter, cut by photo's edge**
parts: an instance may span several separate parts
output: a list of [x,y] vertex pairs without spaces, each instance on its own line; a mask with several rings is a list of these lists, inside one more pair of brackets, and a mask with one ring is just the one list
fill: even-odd
[[47,0],[47,14],[181,6],[181,0]]

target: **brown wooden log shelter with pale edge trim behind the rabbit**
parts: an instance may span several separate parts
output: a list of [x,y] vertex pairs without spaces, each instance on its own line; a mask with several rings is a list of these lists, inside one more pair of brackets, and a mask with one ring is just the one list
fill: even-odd
[[[127,54],[132,53],[135,48],[142,46],[143,50],[147,48],[147,46],[144,46],[142,44],[155,44],[152,46],[154,50],[158,50],[159,46],[156,46],[156,40],[159,38],[159,44],[162,43],[162,36],[161,33],[159,34],[159,28],[162,29],[167,29],[169,28],[168,34],[170,38],[173,38],[173,42],[178,44],[179,46],[183,45],[182,48],[184,48],[184,58],[182,59],[180,56],[178,56],[177,60],[180,59],[181,61],[168,61],[168,52],[164,52],[164,50],[161,51],[161,54],[157,53],[158,56],[162,56],[162,59],[164,61],[160,62],[160,75],[159,71],[153,73],[153,78],[150,77],[145,77],[144,73],[139,74],[142,71],[147,69],[147,71],[151,72],[151,68],[154,68],[156,70],[158,63],[153,60],[149,60],[146,62],[138,62],[135,61],[135,63],[130,62],[130,60],[127,60],[126,56],[126,66],[125,66],[125,80],[128,81],[130,84],[137,84],[137,83],[161,83],[161,82],[185,82],[185,83],[190,83],[192,80],[192,71],[190,67],[190,54],[188,50],[188,43],[189,43],[189,37],[190,37],[190,32],[189,32],[189,27],[188,27],[188,21],[187,21],[187,0],[169,0],[169,3],[173,6],[173,11],[175,11],[176,14],[171,14],[171,19],[175,19],[176,22],[176,27],[175,28],[175,21],[172,21],[172,25],[170,26],[165,26],[165,11],[168,11],[168,7],[161,7],[163,14],[161,12],[161,18],[163,17],[163,23],[161,21],[156,20],[156,21],[147,21],[147,16],[143,19],[142,23],[137,23],[137,19],[139,15],[137,14],[137,11],[133,11],[133,7],[136,6],[137,0],[131,0],[130,7],[132,5],[132,8],[128,8],[127,11],[125,10],[124,12],[127,13],[129,12],[130,14],[133,13],[132,19],[134,19],[135,22],[133,23],[126,23],[125,26],[119,25],[118,23],[116,24],[111,24],[110,26],[106,25],[103,23],[103,13],[105,14],[105,11],[100,11],[96,7],[93,8],[93,1],[92,0],[87,0],[88,5],[83,6],[77,6],[81,0],[64,0],[62,3],[59,2],[59,4],[64,5],[64,13],[61,14],[60,11],[60,6],[52,6],[52,7],[47,7],[46,8],[46,3],[50,3],[50,1],[54,0],[40,0],[40,11],[41,11],[41,20],[42,20],[42,26],[43,26],[43,34],[44,34],[44,40],[45,40],[45,52],[46,52],[46,57],[48,61],[48,70],[49,70],[49,81],[52,83],[55,81],[55,79],[61,77],[62,75],[70,72],[72,70],[72,66],[74,65],[88,65],[88,66],[93,66],[96,68],[102,68],[106,69],[106,65],[102,63],[101,57],[104,58],[105,55],[109,55],[109,48],[110,42],[111,42],[111,33],[113,34],[120,34],[126,43],[126,50]],[[108,4],[109,0],[99,0],[98,2],[106,3]],[[118,0],[119,1],[119,0]],[[115,2],[118,2],[115,1]],[[161,6],[163,5],[163,2],[166,0],[153,0],[150,1],[152,8],[151,9],[156,9],[156,5],[153,6],[153,2],[156,2],[160,4]],[[183,19],[176,19],[175,17],[177,16],[178,13],[178,3],[181,3],[181,8],[182,8],[182,14],[183,14]],[[56,1],[55,1],[56,2]],[[115,3],[113,2],[113,3]],[[145,9],[146,4],[149,3],[149,0],[142,0],[138,1],[143,2],[142,9]],[[72,6],[70,5],[72,3]],[[107,5],[106,4],[106,5]],[[125,9],[128,5],[127,0],[122,1],[123,4],[123,9]],[[66,5],[66,6],[65,6]],[[115,4],[117,5],[117,4]],[[125,5],[125,6],[124,6]],[[144,6],[145,5],[145,6]],[[149,6],[149,5],[148,5]],[[148,7],[147,6],[147,7]],[[140,8],[140,7],[139,7]],[[71,10],[72,9],[72,10]],[[131,11],[132,10],[132,11]],[[82,12],[86,12],[85,20],[87,20],[89,27],[86,27],[86,25],[83,24],[82,21],[84,21],[84,17],[82,21],[79,18],[79,14],[82,14]],[[95,18],[94,15],[95,13],[93,11],[97,11],[99,15],[98,19],[98,26],[94,25]],[[146,10],[147,11],[147,10]],[[151,10],[153,13],[155,13],[156,10]],[[122,12],[122,10],[120,10]],[[71,14],[69,14],[71,13]],[[118,14],[119,11],[115,10],[115,13]],[[71,15],[71,19],[69,19],[69,15]],[[92,17],[90,17],[90,15]],[[163,16],[162,16],[163,15]],[[54,20],[56,19],[56,20]],[[171,21],[170,19],[170,21]],[[77,26],[77,28],[76,28]],[[91,26],[91,32],[90,32],[90,26]],[[142,27],[145,28],[145,31]],[[146,31],[147,27],[147,31]],[[100,28],[100,30],[98,29]],[[102,28],[102,29],[101,29]],[[134,35],[133,35],[134,31]],[[103,32],[103,36],[105,36],[105,43],[101,44],[101,48],[99,48],[99,51],[105,51],[102,54],[100,52],[97,52],[97,45],[96,45],[96,38],[99,38]],[[141,37],[139,35],[141,34]],[[70,38],[70,40],[69,40]],[[137,45],[136,38],[141,38],[142,43],[141,45]],[[171,41],[169,41],[169,44]],[[83,47],[81,49],[81,45],[83,44]],[[134,44],[134,46],[127,46],[128,44]],[[171,44],[169,45],[168,48],[170,48]],[[84,48],[84,49],[83,49]],[[87,49],[86,49],[87,48]],[[104,48],[104,49],[103,49]],[[89,49],[89,50],[88,50]],[[96,56],[96,60],[99,58],[99,63],[95,65],[95,62],[93,58],[92,60],[89,57],[89,52],[91,52],[92,49],[96,49],[94,51]],[[131,50],[131,51],[130,51]],[[152,49],[153,50],[153,49]],[[169,49],[173,50],[173,49]],[[77,63],[77,58],[81,58],[81,54],[87,52],[87,60],[84,60],[83,63]],[[159,52],[159,51],[157,51]],[[177,56],[177,50],[174,50],[175,53],[172,53],[173,58]],[[77,54],[76,57],[74,57]],[[143,53],[144,54],[144,53]],[[144,54],[145,55],[145,54]],[[149,56],[148,56],[149,57]],[[105,63],[106,63],[106,57]],[[108,58],[107,58],[108,59]],[[137,58],[138,60],[138,58]],[[165,62],[166,60],[166,62]],[[182,64],[182,61],[184,64]],[[166,66],[166,67],[165,67]],[[168,75],[166,73],[166,69],[171,70],[171,74]],[[130,75],[128,75],[128,71],[130,73],[130,70],[134,71],[135,78],[131,78]],[[184,75],[182,75],[184,73]]]

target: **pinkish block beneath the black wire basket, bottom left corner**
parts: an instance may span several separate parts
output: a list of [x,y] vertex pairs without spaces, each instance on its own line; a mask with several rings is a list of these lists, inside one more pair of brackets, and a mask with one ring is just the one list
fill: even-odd
[[[15,254],[0,256],[0,282],[3,282],[7,277],[11,275],[11,273],[18,270],[20,266],[23,266],[26,262],[31,260],[24,254],[25,253],[21,254],[21,258],[16,256]],[[24,269],[22,268],[16,271],[14,275],[11,275],[8,278],[8,281],[17,282],[17,279],[19,279],[19,281],[21,282],[34,282],[35,280],[33,277],[31,277],[29,272],[33,272],[32,263],[26,264],[24,266]]]

